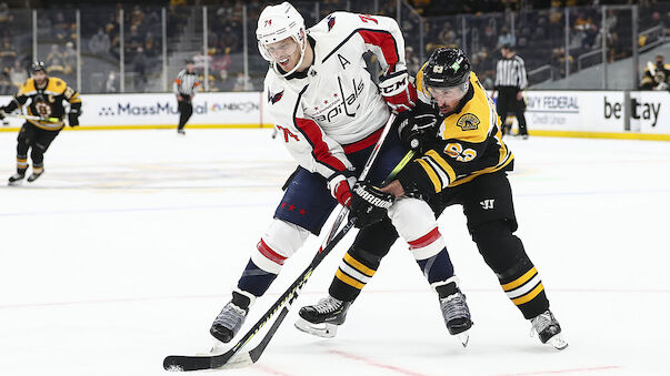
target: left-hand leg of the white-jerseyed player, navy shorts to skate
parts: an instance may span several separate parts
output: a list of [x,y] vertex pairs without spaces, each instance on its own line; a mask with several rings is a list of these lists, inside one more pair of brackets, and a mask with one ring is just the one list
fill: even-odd
[[256,298],[263,295],[284,261],[298,251],[310,233],[318,235],[337,201],[326,189],[326,179],[299,167],[287,182],[274,219],[252,252],[232,299],[214,319],[210,333],[230,342],[241,327]]

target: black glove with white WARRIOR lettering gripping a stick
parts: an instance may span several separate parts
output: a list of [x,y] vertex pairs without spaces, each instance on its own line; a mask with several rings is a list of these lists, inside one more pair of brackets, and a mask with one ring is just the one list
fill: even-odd
[[369,226],[387,216],[393,201],[396,197],[392,194],[381,192],[370,182],[358,182],[353,185],[349,219],[356,221],[356,227]]

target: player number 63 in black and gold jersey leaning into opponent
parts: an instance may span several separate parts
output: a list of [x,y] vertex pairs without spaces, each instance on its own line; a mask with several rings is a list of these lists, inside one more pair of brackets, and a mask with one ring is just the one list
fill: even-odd
[[[503,292],[543,344],[566,348],[539,273],[513,234],[518,225],[507,177],[513,155],[502,141],[494,104],[470,71],[466,54],[456,49],[437,50],[417,74],[416,85],[420,102],[399,132],[420,156],[382,191],[397,197],[422,196],[436,215],[447,206],[462,205],[470,235]],[[390,221],[361,230],[340,264],[330,296],[302,307],[296,326],[316,335],[328,333],[328,327],[333,333],[397,237]],[[367,278],[351,283],[350,270]]]

